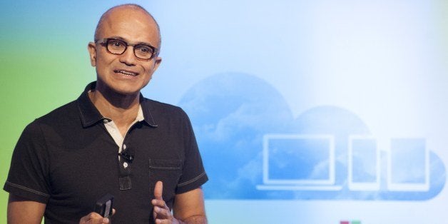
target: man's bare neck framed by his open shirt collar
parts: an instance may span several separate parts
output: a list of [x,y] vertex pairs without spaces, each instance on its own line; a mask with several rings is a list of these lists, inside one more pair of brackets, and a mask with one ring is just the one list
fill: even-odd
[[136,120],[140,94],[105,94],[102,91],[91,90],[88,96],[101,115],[111,118],[124,136],[131,123]]

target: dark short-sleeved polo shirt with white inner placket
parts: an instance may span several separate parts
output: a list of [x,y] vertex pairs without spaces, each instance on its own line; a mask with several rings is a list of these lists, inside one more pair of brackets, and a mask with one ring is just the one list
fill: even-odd
[[106,193],[115,196],[113,223],[152,223],[158,180],[170,208],[175,194],[208,180],[188,116],[181,108],[141,96],[144,120],[131,126],[123,141],[133,160],[119,158],[104,126],[108,119],[88,98],[95,84],[76,101],[26,126],[4,190],[46,203],[46,223],[78,223]]

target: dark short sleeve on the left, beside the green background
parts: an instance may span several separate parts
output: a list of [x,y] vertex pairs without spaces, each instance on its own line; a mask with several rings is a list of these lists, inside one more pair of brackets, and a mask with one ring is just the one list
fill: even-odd
[[7,192],[39,203],[47,203],[49,190],[49,153],[39,123],[26,126],[14,148]]

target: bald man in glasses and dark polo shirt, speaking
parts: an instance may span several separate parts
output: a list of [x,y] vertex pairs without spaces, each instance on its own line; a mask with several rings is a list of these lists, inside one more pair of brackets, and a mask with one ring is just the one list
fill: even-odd
[[208,178],[188,117],[140,93],[162,61],[160,44],[141,6],[101,16],[88,44],[97,81],[30,123],[14,149],[9,223],[110,223],[93,213],[106,193],[114,223],[207,222],[200,186]]

